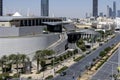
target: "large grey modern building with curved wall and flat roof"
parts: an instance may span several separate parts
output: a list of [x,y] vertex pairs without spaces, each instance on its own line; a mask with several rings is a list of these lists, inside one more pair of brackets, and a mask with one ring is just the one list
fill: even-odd
[[[64,51],[67,39],[62,33],[54,33],[58,29],[61,31],[60,24],[62,25],[62,19],[55,17],[0,17],[0,57],[17,53],[33,55],[37,50],[48,47],[57,53]],[[48,33],[44,33],[46,29]],[[52,44],[56,46],[51,46]]]

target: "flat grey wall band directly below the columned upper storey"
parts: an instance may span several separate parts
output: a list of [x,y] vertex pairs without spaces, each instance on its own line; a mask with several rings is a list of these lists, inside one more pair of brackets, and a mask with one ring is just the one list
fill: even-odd
[[0,27],[0,37],[41,34],[46,26]]

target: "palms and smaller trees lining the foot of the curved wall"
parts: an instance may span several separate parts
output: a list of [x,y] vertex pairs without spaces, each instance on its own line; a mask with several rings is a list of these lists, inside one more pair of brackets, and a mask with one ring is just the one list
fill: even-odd
[[[78,50],[68,51],[66,54],[61,55],[59,57],[55,56],[55,52],[53,50],[39,50],[36,51],[35,55],[33,56],[33,61],[36,61],[37,64],[37,73],[40,71],[44,71],[48,64],[46,64],[46,60],[51,60],[51,64],[53,62],[61,62],[64,59],[67,59],[73,55],[78,53]],[[54,58],[54,59],[53,59]],[[54,61],[53,61],[54,60]],[[4,55],[0,58],[0,66],[2,68],[2,74],[9,74],[12,73],[12,69],[16,69],[17,77],[19,74],[26,72],[26,62],[30,62],[30,59],[25,54],[11,54],[11,55]],[[22,66],[22,67],[21,67]],[[40,69],[41,66],[41,69]],[[31,66],[30,66],[31,67]]]

